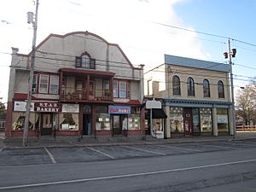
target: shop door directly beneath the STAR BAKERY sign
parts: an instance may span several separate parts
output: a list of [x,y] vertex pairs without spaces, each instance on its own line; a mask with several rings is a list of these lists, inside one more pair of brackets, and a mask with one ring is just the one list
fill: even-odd
[[52,113],[42,113],[41,115],[41,136],[50,136],[52,133]]

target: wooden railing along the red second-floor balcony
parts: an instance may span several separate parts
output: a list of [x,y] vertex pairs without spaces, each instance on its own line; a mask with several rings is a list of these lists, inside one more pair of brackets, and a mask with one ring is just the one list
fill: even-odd
[[63,100],[91,100],[91,101],[111,101],[112,93],[109,90],[62,90],[61,99]]

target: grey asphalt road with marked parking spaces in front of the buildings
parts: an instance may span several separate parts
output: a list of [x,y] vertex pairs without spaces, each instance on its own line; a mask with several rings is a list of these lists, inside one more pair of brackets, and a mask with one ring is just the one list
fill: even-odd
[[256,141],[4,149],[0,191],[255,191],[255,152]]

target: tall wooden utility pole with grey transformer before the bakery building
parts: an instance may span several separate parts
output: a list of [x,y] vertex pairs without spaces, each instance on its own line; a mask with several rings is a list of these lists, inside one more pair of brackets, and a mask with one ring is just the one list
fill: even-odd
[[[25,116],[25,125],[23,130],[23,141],[22,145],[26,147],[27,143],[27,132],[29,129],[29,118],[30,118],[30,106],[32,100],[32,81],[34,75],[35,67],[35,55],[36,55],[36,41],[37,41],[37,30],[38,30],[38,4],[39,0],[36,2],[36,14],[33,15],[32,12],[27,13],[27,23],[32,23],[33,26],[33,39],[32,39],[32,57],[31,57],[31,68],[28,78],[28,87],[27,87],[27,99],[26,99],[26,116]],[[34,18],[33,18],[34,16]]]

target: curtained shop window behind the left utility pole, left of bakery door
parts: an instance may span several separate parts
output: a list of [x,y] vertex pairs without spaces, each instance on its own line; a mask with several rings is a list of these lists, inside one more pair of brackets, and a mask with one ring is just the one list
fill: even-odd
[[[25,116],[24,112],[14,112],[13,113],[13,130],[23,130],[25,125]],[[39,122],[38,113],[30,113],[29,119],[29,130],[34,130],[38,126]]]

